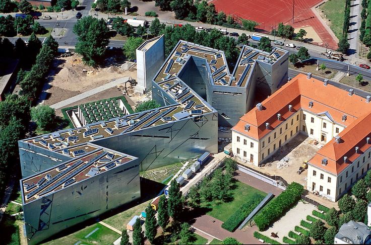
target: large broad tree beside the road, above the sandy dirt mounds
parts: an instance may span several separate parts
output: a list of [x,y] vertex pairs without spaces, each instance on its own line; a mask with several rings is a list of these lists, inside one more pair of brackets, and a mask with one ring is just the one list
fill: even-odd
[[86,16],[78,20],[73,29],[79,40],[76,52],[83,56],[88,65],[101,62],[108,45],[108,28],[103,19]]

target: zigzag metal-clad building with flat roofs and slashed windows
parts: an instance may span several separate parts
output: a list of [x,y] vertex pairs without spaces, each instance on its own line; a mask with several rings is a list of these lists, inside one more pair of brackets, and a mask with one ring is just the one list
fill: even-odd
[[244,46],[231,75],[222,51],[179,41],[152,81],[162,107],[20,140],[28,243],[140,198],[140,171],[217,152],[218,113],[233,125],[250,109],[254,77],[279,88],[287,51]]

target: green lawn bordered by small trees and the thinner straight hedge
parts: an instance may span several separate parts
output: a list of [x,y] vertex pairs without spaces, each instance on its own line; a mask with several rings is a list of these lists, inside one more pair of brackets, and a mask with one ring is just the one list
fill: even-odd
[[237,187],[232,191],[233,199],[231,202],[212,201],[202,203],[202,207],[208,207],[212,210],[208,215],[225,222],[242,204],[248,201],[255,193],[266,196],[267,194],[259,191],[242,182],[236,182]]

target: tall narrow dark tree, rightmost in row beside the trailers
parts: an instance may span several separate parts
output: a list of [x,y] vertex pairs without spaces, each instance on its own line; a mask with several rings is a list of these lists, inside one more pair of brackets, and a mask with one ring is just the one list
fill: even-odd
[[171,181],[167,204],[169,216],[174,220],[179,220],[180,214],[183,210],[183,199],[180,185],[175,180]]

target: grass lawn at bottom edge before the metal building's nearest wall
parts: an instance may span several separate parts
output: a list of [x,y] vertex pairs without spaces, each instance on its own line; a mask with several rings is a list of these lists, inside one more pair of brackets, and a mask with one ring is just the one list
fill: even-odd
[[[98,228],[98,230],[85,238],[85,236],[94,231],[96,228]],[[120,234],[99,223],[96,223],[91,226],[87,226],[79,231],[76,231],[75,233],[48,241],[44,244],[75,244],[76,242],[81,241],[82,244],[108,245],[112,244],[113,241],[115,241],[118,237],[120,237]]]

